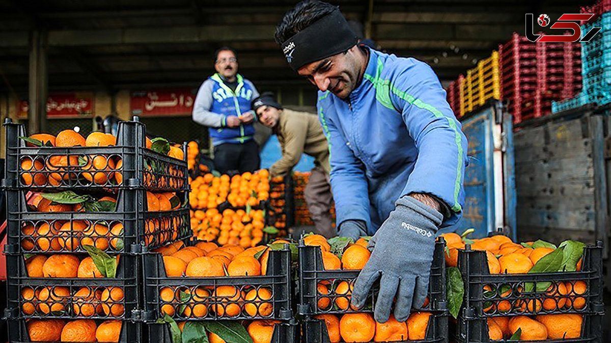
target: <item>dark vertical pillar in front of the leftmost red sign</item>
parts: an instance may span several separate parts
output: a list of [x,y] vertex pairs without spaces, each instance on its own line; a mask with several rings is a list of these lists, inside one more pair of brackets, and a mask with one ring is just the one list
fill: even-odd
[[30,32],[29,114],[28,134],[46,131],[46,99],[48,98],[46,31]]

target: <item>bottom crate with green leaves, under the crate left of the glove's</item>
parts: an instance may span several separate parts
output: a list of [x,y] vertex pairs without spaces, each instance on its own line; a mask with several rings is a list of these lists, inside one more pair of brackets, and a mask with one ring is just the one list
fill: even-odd
[[299,341],[299,326],[295,320],[280,321],[257,319],[229,321],[172,322],[151,324],[148,327],[148,342],[177,343],[190,342],[193,337],[207,336],[210,343],[222,342],[257,342],[257,343],[296,343]]

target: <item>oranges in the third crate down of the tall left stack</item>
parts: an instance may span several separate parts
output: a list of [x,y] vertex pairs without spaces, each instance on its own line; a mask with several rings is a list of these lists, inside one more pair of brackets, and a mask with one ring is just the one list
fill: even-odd
[[[26,269],[30,278],[104,277],[92,258],[81,260],[71,254],[34,255],[26,259]],[[84,286],[71,292],[67,286],[27,286],[21,289],[21,311],[26,316],[64,312],[83,317],[119,317],[125,313],[123,299],[121,287]]]

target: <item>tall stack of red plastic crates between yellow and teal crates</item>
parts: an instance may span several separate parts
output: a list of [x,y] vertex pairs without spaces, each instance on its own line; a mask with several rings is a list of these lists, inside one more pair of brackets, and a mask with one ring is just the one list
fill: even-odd
[[579,43],[532,43],[514,33],[499,56],[501,96],[514,123],[548,115],[552,100],[581,90]]

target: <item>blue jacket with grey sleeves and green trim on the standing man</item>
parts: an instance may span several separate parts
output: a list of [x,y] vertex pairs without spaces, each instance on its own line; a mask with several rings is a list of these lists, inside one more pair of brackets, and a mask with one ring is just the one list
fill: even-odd
[[[210,76],[199,87],[193,104],[193,120],[209,126],[214,146],[223,143],[244,143],[252,140],[255,128],[252,123],[237,128],[226,126],[227,116],[239,116],[251,110],[251,99],[259,96],[251,81],[236,75],[238,85],[235,92],[224,83],[219,73]],[[255,115],[255,120],[257,116]]]

